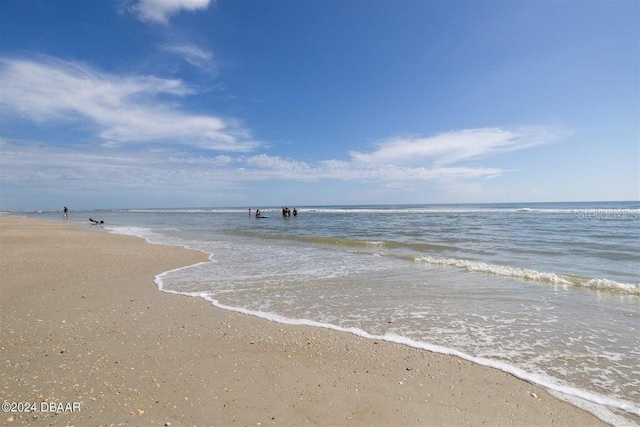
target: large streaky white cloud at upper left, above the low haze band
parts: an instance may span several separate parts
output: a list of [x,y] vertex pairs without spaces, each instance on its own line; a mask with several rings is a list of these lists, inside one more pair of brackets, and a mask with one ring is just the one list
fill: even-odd
[[110,146],[170,142],[211,150],[250,151],[259,144],[230,119],[181,111],[193,93],[177,79],[106,74],[70,61],[0,59],[4,112],[36,122],[89,122]]

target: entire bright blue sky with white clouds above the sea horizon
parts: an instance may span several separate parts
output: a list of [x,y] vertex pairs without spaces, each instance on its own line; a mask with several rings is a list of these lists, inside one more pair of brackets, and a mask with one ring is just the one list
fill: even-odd
[[638,200],[639,17],[0,0],[0,209]]

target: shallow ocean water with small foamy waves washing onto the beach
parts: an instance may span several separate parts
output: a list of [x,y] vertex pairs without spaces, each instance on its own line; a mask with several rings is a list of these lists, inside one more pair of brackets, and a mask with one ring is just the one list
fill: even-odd
[[297,208],[72,210],[69,221],[209,254],[158,276],[164,291],[454,354],[611,424],[637,422],[640,202]]

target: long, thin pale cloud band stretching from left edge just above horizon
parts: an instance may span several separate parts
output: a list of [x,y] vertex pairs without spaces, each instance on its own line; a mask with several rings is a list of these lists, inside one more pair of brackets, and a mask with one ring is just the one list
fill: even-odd
[[235,188],[264,180],[370,181],[382,184],[465,180],[499,176],[498,168],[401,167],[353,161],[324,160],[314,164],[279,156],[191,156],[171,149],[131,151],[122,149],[51,147],[37,143],[5,141],[0,157],[0,181],[4,185],[31,188],[86,188],[96,190],[169,191],[188,188],[208,192]]

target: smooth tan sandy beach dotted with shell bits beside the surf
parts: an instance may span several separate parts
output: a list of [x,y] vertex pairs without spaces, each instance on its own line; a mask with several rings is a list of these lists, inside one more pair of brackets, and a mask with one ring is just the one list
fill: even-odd
[[0,217],[0,255],[0,401],[36,404],[5,425],[603,425],[455,357],[157,291],[197,251]]

